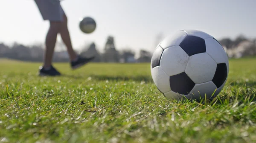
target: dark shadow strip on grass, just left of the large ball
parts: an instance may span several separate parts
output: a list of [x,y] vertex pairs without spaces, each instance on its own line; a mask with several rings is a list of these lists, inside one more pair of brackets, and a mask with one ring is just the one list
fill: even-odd
[[145,81],[152,82],[150,76],[107,76],[107,75],[90,75],[92,79],[99,81]]

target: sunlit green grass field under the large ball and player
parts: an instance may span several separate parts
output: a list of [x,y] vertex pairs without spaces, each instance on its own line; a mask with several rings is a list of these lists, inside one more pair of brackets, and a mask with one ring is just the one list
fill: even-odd
[[88,64],[38,77],[40,63],[0,60],[0,143],[255,143],[256,58],[231,59],[209,102],[171,101],[150,64]]

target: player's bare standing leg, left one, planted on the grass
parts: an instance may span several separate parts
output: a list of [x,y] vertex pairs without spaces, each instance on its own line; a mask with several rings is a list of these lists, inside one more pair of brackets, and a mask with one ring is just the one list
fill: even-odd
[[45,39],[44,68],[49,68],[52,64],[55,43],[61,22],[50,22],[50,28]]

